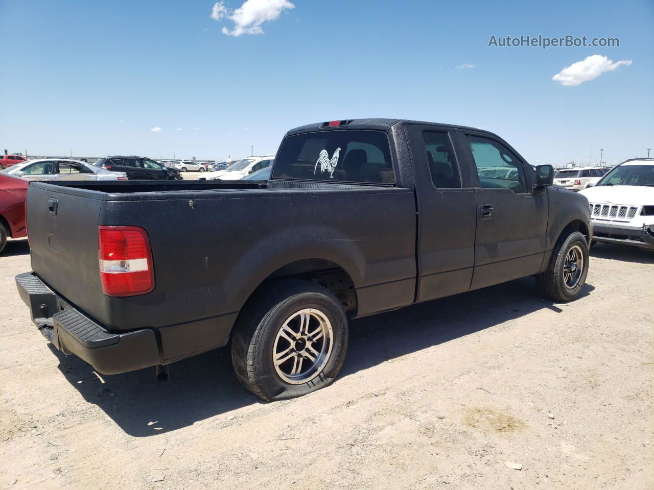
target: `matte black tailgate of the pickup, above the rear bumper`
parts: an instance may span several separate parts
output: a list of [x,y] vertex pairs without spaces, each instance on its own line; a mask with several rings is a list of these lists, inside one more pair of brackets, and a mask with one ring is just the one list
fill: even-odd
[[[47,188],[47,189],[46,189]],[[27,227],[32,270],[62,297],[92,312],[102,297],[97,260],[101,200],[31,184]]]

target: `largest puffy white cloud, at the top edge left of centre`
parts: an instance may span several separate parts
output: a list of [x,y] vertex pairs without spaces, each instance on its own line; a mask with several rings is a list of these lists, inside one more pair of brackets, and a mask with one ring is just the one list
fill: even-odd
[[216,20],[227,16],[234,23],[231,31],[227,27],[223,27],[222,33],[238,37],[242,34],[263,34],[264,29],[261,28],[261,24],[277,19],[284,8],[295,8],[295,5],[288,0],[246,0],[231,15],[227,15],[228,10],[221,1],[213,6],[211,18],[215,18],[213,14],[216,12],[216,8],[219,16]]

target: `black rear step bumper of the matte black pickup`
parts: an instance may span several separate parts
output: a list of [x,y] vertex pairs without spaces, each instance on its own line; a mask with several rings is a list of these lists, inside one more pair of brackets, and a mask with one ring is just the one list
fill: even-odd
[[33,323],[65,355],[75,354],[102,374],[161,364],[151,329],[111,333],[65,302],[32,272],[16,276],[16,287]]

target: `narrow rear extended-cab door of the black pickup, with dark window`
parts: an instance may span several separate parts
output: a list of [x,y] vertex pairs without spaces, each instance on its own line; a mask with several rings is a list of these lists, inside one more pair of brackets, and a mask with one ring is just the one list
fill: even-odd
[[476,202],[470,172],[460,165],[456,131],[405,125],[418,208],[416,301],[470,289],[475,263]]

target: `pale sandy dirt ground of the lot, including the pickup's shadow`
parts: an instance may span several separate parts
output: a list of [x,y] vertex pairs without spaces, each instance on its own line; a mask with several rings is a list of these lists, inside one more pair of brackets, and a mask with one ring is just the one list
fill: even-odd
[[[654,253],[598,245],[583,297],[526,278],[359,319],[334,385],[264,403],[218,350],[97,376],[0,256],[0,488],[652,489]],[[521,470],[513,469],[520,467]]]

